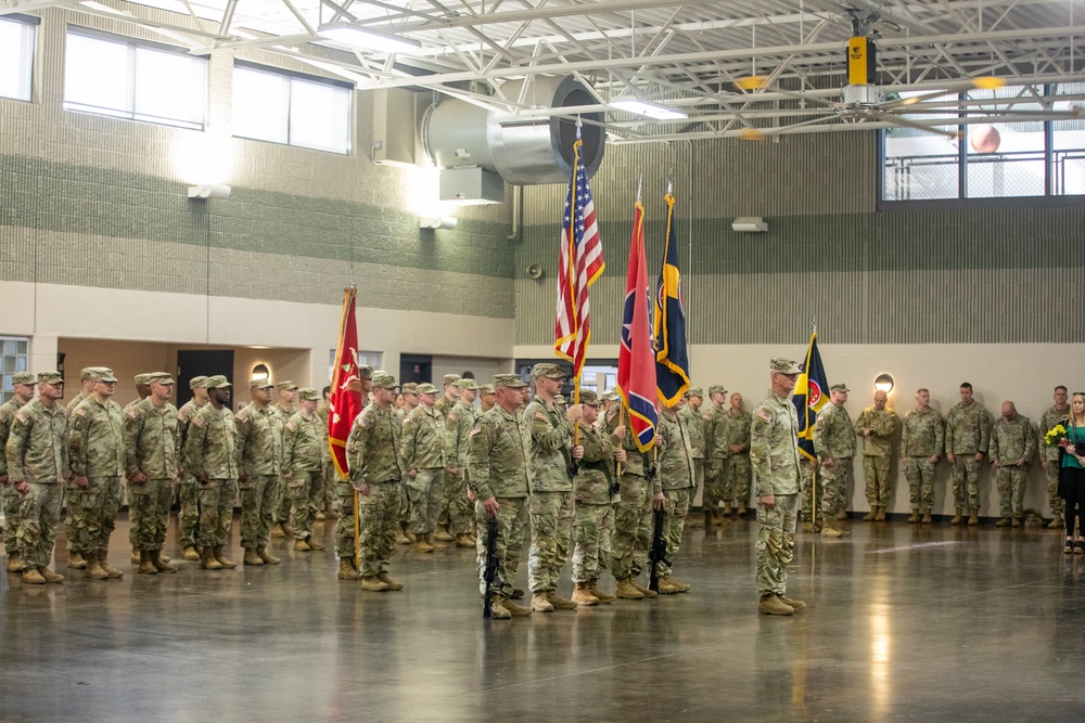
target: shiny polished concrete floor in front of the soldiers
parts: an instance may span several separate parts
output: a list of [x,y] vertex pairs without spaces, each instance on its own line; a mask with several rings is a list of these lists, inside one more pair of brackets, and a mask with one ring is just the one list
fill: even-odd
[[675,577],[689,594],[509,621],[482,619],[474,553],[455,548],[400,547],[400,593],[339,582],[330,552],[282,540],[272,568],[7,576],[0,721],[1085,716],[1085,559],[1062,555],[1059,532],[852,529],[800,535],[789,592],[808,608],[791,618],[755,611],[753,521],[687,531]]

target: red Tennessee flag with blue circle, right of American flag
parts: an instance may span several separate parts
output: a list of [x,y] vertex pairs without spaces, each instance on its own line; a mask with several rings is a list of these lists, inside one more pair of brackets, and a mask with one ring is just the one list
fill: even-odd
[[625,280],[622,345],[617,351],[617,387],[629,413],[629,429],[637,449],[647,452],[655,442],[655,363],[649,323],[648,263],[644,260],[644,207],[637,199],[629,244],[629,270]]

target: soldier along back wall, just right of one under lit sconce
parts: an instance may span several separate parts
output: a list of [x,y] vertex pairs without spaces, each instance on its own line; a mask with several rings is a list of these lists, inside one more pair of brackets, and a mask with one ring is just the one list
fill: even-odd
[[916,409],[904,416],[904,430],[901,432],[901,462],[908,479],[908,498],[911,502],[908,521],[922,520],[924,525],[932,521],[934,472],[939,456],[945,449],[946,434],[945,421],[930,404],[930,391],[916,391]]

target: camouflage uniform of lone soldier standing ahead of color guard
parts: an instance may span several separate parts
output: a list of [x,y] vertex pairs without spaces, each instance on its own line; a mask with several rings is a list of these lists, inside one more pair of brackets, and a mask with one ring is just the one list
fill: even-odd
[[[830,409],[826,406],[825,410]],[[825,410],[818,417],[820,425]],[[845,413],[846,414],[846,413]],[[783,595],[788,565],[794,557],[795,505],[799,501],[799,416],[790,397],[769,391],[753,409],[750,427],[750,463],[757,496],[757,590],[762,595]],[[846,425],[853,443],[852,425]],[[851,462],[851,460],[848,460]],[[761,501],[776,498],[771,507]],[[825,515],[829,511],[825,509]]]

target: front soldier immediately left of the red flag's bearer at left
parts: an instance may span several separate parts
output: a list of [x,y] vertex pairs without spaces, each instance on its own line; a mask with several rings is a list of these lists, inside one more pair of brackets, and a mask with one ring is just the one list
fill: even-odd
[[312,520],[324,494],[322,450],[328,448],[328,440],[316,415],[317,390],[298,389],[297,401],[302,409],[283,429],[283,478],[294,509],[294,550],[319,552],[324,545],[312,539]]

